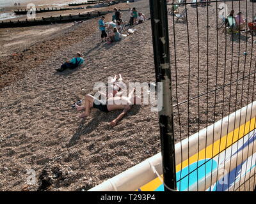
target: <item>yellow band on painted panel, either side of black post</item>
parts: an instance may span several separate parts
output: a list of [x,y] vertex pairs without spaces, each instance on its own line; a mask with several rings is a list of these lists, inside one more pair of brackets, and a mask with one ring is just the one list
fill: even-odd
[[[220,140],[217,140],[213,144],[207,146],[205,149],[201,150],[198,154],[194,154],[193,156],[189,157],[189,159],[186,159],[182,163],[178,164],[176,166],[176,172],[181,170],[183,168],[186,168],[189,164],[193,164],[198,160],[202,160],[205,158],[213,158],[214,156],[218,155],[221,151],[227,149],[230,147],[232,144],[237,142],[237,140],[243,138],[243,136],[247,135],[250,133],[250,131],[253,131],[253,129],[256,128],[256,122],[255,122],[255,117],[245,124],[241,125],[239,128],[236,128],[234,131],[231,131],[228,133],[228,135],[223,136],[220,138]],[[206,154],[205,154],[206,151]],[[205,157],[206,156],[206,157]],[[161,185],[161,181],[156,178],[148,184],[145,184],[143,187],[141,187],[141,191],[154,191]]]

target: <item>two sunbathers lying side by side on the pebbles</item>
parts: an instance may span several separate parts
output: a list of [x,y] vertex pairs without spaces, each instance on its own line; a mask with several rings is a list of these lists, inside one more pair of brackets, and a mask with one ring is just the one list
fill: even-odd
[[110,122],[111,126],[116,126],[116,124],[126,115],[129,110],[131,110],[132,105],[140,105],[141,98],[137,97],[135,94],[135,88],[129,92],[128,96],[124,96],[124,82],[122,75],[119,77],[114,76],[111,80],[111,86],[108,90],[108,94],[99,92],[100,99],[87,94],[85,96],[84,106],[76,105],[78,112],[84,112],[79,115],[79,118],[88,117],[90,115],[92,108],[97,108],[104,113],[111,112],[113,110],[123,110],[122,113],[116,117],[116,119]]

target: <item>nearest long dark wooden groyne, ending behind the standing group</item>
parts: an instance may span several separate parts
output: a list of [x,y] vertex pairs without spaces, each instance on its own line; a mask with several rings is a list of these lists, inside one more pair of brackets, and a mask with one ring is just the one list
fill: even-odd
[[74,22],[74,21],[80,21],[80,20],[88,20],[91,18],[96,18],[101,15],[106,15],[108,13],[113,13],[113,11],[94,11],[94,12],[88,12],[86,14],[80,14],[79,15],[67,15],[67,16],[59,16],[59,17],[47,17],[42,18],[40,20],[36,20],[35,18],[33,20],[17,20],[10,22],[0,22],[0,28],[8,28],[8,27],[28,27],[28,26],[35,26],[35,25],[47,25],[47,24],[61,24],[61,23],[67,23],[67,22]]

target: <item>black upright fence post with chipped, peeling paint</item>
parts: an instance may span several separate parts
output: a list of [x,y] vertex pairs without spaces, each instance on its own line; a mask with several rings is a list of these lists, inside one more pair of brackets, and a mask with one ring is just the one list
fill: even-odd
[[[173,131],[172,80],[166,0],[150,0],[156,82],[161,83],[163,106],[158,110],[163,163],[164,191],[177,191]],[[157,84],[157,91],[159,85]],[[158,95],[158,94],[157,94]]]

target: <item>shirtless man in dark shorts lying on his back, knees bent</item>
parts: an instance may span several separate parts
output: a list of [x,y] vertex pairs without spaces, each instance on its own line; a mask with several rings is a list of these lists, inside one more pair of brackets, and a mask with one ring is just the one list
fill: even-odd
[[135,88],[129,93],[128,97],[115,96],[113,98],[109,98],[106,104],[104,101],[87,94],[85,96],[85,106],[76,105],[77,111],[85,110],[85,112],[78,117],[88,117],[90,115],[91,108],[97,108],[105,113],[111,112],[112,110],[123,110],[122,113],[116,117],[116,119],[110,122],[110,126],[116,126],[116,124],[126,115],[126,113],[131,110],[132,105],[140,105],[141,99],[134,96],[134,92]]

